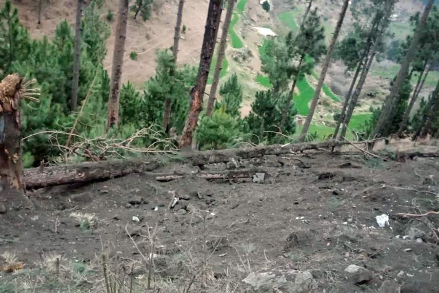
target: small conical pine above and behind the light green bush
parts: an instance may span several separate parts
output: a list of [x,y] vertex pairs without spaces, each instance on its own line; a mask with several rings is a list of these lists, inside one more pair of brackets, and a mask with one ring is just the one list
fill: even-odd
[[241,115],[242,87],[236,73],[221,85],[220,95],[221,101],[215,104],[215,108],[223,108],[226,114],[238,119]]

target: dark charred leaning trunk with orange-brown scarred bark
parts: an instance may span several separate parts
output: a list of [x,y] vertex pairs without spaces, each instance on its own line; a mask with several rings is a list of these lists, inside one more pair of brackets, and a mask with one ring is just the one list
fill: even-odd
[[206,89],[210,64],[215,50],[218,29],[221,21],[221,0],[210,0],[204,30],[203,45],[201,47],[200,65],[198,67],[197,81],[190,92],[191,104],[187,115],[186,124],[180,139],[180,147],[191,146],[192,137],[197,127],[198,117],[203,107],[203,95]]

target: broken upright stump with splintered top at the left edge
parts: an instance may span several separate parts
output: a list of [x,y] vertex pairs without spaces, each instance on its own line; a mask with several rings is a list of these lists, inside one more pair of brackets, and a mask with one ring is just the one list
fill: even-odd
[[0,190],[24,191],[21,165],[20,86],[18,74],[0,83]]

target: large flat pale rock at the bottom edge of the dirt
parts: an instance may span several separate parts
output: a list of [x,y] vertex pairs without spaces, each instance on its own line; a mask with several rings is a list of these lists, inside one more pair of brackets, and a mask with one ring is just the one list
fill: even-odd
[[242,281],[258,293],[308,293],[317,289],[317,282],[309,271],[265,270],[252,272]]

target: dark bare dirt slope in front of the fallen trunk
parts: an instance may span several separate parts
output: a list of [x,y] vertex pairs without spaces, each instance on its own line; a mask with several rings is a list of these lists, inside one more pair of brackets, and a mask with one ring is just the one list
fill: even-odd
[[[151,292],[250,292],[242,279],[274,268],[311,272],[319,293],[378,292],[384,280],[401,293],[438,292],[439,216],[397,215],[439,209],[438,158],[308,152],[244,167],[263,170],[264,183],[207,181],[173,163],[156,172],[192,175],[38,189],[28,193],[37,211],[0,202],[0,254],[24,264],[0,272],[0,292],[110,292],[104,276],[118,292],[145,292],[151,251]],[[180,201],[169,209],[172,190]],[[390,227],[377,226],[383,213]],[[351,264],[372,279],[353,283]]]

